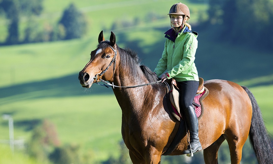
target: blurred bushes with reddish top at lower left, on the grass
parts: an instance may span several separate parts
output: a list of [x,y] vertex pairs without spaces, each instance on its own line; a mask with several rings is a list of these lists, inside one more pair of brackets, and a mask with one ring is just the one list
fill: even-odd
[[62,145],[55,128],[49,120],[43,120],[36,126],[29,142],[26,153],[42,163],[91,163],[93,157],[89,151],[81,153],[77,144]]

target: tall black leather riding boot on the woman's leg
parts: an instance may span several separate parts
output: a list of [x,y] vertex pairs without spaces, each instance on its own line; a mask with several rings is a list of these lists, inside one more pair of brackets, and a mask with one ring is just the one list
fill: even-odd
[[183,154],[190,154],[190,146],[192,153],[202,150],[201,143],[198,137],[198,119],[195,114],[195,110],[192,106],[188,106],[186,109],[183,110],[185,115],[186,124],[190,131],[190,145],[188,149],[183,152]]

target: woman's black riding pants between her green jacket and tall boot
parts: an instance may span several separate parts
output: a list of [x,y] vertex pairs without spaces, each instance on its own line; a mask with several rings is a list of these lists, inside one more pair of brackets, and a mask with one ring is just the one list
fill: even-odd
[[188,106],[192,105],[192,101],[194,100],[195,94],[198,90],[199,82],[193,80],[181,81],[178,82],[178,86],[180,89],[179,107],[180,110],[183,111]]

